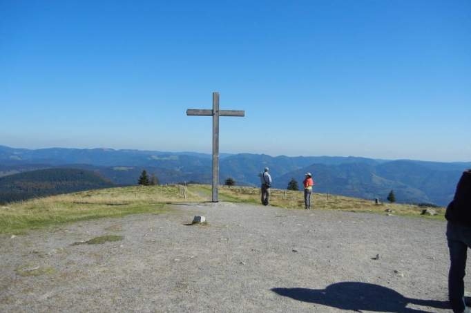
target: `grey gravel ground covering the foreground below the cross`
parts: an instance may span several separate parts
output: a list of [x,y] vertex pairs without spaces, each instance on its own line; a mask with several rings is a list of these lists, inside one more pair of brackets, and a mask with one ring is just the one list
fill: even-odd
[[[209,224],[184,225],[197,214]],[[3,235],[0,311],[450,312],[444,232],[436,220],[220,202]],[[105,234],[124,239],[72,245]]]

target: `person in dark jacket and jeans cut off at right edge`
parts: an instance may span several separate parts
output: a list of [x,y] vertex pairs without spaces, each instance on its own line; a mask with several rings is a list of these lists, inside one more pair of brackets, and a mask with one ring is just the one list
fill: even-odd
[[461,176],[452,202],[446,209],[446,236],[450,249],[448,298],[453,312],[471,312],[464,301],[466,254],[471,247],[471,169]]

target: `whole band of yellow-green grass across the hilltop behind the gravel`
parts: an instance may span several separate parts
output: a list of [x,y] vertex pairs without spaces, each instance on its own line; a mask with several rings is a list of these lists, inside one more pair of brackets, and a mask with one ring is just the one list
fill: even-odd
[[[192,184],[187,187],[133,186],[116,187],[69,193],[47,198],[10,203],[0,206],[0,233],[21,234],[28,229],[37,229],[65,222],[93,218],[121,217],[128,214],[160,214],[171,209],[169,205],[180,202],[204,202],[211,198],[211,187]],[[314,193],[311,198],[316,209],[335,209],[355,212],[386,214],[389,209],[394,215],[421,216],[423,208],[416,205],[374,205],[371,200],[327,196]],[[220,200],[228,202],[260,203],[259,189],[251,187],[221,187]],[[304,209],[302,191],[273,189],[271,205],[286,209]],[[260,209],[267,209],[260,207]],[[269,208],[268,208],[269,209]],[[436,209],[437,216],[427,218],[443,219],[444,209]]]

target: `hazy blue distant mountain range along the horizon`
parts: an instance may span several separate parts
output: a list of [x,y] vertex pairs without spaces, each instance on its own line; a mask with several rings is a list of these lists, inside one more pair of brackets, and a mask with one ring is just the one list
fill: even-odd
[[[14,149],[0,146],[0,176],[35,169],[70,168],[93,171],[114,184],[135,184],[141,171],[155,173],[161,183],[211,182],[211,155],[114,149]],[[447,205],[456,182],[471,162],[376,160],[357,157],[287,157],[249,153],[220,155],[220,180],[256,186],[258,173],[270,168],[273,187],[285,189],[313,173],[315,191],[358,198],[385,197],[390,190],[398,202]],[[0,186],[1,192],[1,186]]]

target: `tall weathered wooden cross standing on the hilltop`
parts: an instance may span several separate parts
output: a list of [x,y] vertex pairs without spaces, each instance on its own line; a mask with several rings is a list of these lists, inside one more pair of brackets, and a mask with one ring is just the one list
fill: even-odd
[[186,115],[212,116],[213,117],[213,192],[212,201],[218,202],[219,190],[219,117],[220,116],[245,116],[245,111],[219,110],[219,93],[213,93],[213,109],[200,110],[189,108]]

